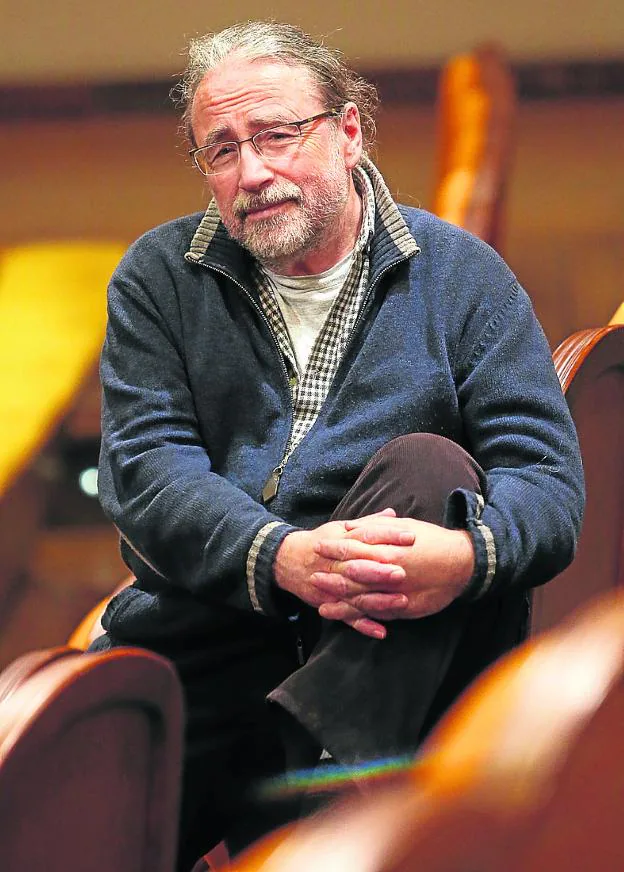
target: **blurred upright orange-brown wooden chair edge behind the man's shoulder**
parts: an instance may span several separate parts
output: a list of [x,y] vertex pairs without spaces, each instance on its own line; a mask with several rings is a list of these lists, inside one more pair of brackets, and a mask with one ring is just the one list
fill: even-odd
[[515,83],[499,48],[482,46],[445,66],[432,211],[497,249],[515,113]]

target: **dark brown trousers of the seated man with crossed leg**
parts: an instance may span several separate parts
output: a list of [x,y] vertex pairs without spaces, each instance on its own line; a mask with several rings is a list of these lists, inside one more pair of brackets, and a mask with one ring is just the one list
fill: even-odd
[[[456,443],[402,436],[377,452],[333,518],[390,506],[399,516],[442,524],[449,494],[482,492],[484,481]],[[427,618],[391,622],[384,640],[308,608],[296,623],[223,611],[212,629],[189,614],[173,631],[98,640],[100,650],[156,650],[180,675],[187,726],[178,872],[224,837],[236,853],[296,817],[297,802],[259,803],[253,788],[313,765],[322,748],[345,763],[415,750],[453,698],[519,641],[525,602],[520,592],[455,603]],[[307,649],[300,668],[296,637]]]

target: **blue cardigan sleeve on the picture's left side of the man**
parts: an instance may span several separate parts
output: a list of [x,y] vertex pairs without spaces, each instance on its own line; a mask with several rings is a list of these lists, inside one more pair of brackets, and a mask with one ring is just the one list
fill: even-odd
[[[136,261],[131,249],[108,291],[102,507],[119,530],[129,568],[154,588],[180,586],[200,599],[278,615],[271,566],[296,528],[214,472],[198,430],[173,280],[161,268],[154,289],[154,272],[144,277],[144,263]],[[268,570],[248,582],[249,552],[263,528],[269,533],[256,560]]]

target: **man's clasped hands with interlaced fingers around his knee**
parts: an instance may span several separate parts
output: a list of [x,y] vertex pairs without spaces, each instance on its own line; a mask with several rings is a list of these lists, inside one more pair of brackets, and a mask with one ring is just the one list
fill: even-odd
[[465,530],[398,518],[393,509],[290,533],[274,563],[279,587],[375,639],[386,636],[383,621],[441,611],[473,570]]

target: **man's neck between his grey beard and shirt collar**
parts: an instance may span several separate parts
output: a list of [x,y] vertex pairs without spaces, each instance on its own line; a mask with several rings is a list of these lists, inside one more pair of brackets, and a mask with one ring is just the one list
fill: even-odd
[[354,248],[362,226],[363,204],[353,179],[349,196],[340,217],[327,228],[314,248],[294,258],[266,263],[270,270],[283,276],[319,275],[343,260]]

